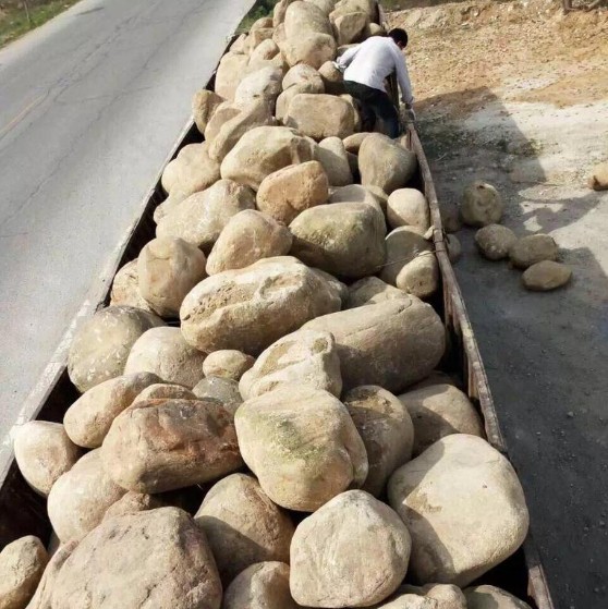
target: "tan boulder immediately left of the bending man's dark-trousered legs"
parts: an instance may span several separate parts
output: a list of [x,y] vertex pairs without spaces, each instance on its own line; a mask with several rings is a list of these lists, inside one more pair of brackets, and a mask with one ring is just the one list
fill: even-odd
[[343,139],[354,131],[351,106],[341,97],[326,94],[296,95],[289,105],[284,123],[316,141]]

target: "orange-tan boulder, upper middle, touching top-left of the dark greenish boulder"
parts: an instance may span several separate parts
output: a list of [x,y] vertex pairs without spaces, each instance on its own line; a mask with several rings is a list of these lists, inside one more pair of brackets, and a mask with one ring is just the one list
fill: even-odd
[[289,224],[299,214],[326,203],[328,197],[327,173],[318,161],[308,161],[267,175],[257,191],[257,207]]

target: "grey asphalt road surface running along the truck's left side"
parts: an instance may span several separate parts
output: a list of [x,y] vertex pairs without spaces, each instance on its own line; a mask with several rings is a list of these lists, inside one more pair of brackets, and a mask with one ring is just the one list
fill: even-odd
[[253,0],[83,0],[0,51],[0,439]]

